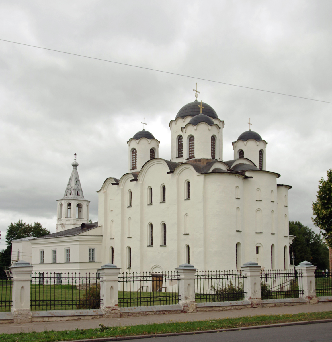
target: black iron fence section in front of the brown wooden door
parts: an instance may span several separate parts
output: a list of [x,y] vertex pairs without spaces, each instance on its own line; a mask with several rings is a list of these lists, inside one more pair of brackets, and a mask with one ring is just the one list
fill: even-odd
[[178,304],[178,273],[122,273],[119,275],[119,306]]

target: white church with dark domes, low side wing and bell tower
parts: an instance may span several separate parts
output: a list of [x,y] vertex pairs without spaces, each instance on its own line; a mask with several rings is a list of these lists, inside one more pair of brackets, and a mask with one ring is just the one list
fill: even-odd
[[[289,268],[289,185],[266,170],[266,144],[249,129],[223,161],[224,121],[206,103],[183,106],[169,123],[171,160],[147,130],[128,141],[128,171],[107,178],[98,192],[98,222],[89,222],[76,159],[56,233],[29,239],[36,272],[121,272],[239,269],[248,261]],[[22,243],[13,241],[14,245]],[[18,246],[18,245],[17,245]],[[14,256],[15,257],[15,256]]]

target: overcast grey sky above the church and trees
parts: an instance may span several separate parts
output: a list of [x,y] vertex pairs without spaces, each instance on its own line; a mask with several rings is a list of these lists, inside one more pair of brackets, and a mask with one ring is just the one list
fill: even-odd
[[[0,39],[332,102],[331,1],[1,1]],[[223,159],[252,130],[266,168],[292,185],[289,218],[314,228],[331,168],[332,104],[168,75],[0,41],[1,248],[11,222],[55,232],[77,153],[90,217],[95,193],[127,171],[146,127],[170,159],[169,121],[195,100],[225,121]],[[316,228],[315,228],[316,229]]]

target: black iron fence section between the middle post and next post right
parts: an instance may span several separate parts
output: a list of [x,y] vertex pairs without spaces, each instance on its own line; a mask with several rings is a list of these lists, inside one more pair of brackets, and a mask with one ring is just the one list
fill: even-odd
[[195,300],[197,303],[243,300],[242,271],[197,271],[195,274]]

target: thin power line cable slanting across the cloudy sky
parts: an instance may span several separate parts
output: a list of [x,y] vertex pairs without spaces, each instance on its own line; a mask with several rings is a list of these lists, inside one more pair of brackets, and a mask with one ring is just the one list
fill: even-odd
[[170,75],[176,75],[176,76],[194,78],[194,79],[202,80],[202,81],[208,81],[208,82],[214,82],[214,83],[225,84],[225,85],[227,85],[227,86],[234,86],[234,87],[239,87],[239,88],[245,88],[245,89],[251,89],[251,90],[258,90],[258,91],[263,91],[263,92],[265,92],[265,93],[272,93],[272,94],[277,94],[277,95],[291,96],[291,97],[303,98],[304,100],[311,100],[311,101],[317,101],[317,102],[324,102],[324,103],[330,103],[330,104],[332,104],[332,102],[323,101],[323,100],[317,100],[316,98],[309,98],[309,97],[303,97],[303,96],[296,96],[296,95],[278,93],[278,92],[276,92],[276,91],[270,91],[270,90],[264,90],[264,89],[259,89],[259,88],[251,88],[251,87],[246,87],[246,86],[240,86],[239,84],[233,84],[233,83],[226,83],[226,82],[220,82],[220,81],[215,81],[215,80],[209,80],[209,79],[207,79],[207,78],[201,78],[201,77],[195,77],[195,76],[189,76],[189,75],[171,73],[170,71],[158,70],[158,69],[147,68],[147,67],[139,66],[139,65],[133,65],[133,64],[115,62],[115,61],[110,61],[110,60],[104,60],[103,58],[85,56],[85,55],[80,55],[80,54],[78,54],[78,53],[60,51],[60,50],[55,50],[55,49],[48,49],[48,48],[43,48],[43,47],[36,46],[36,45],[18,43],[18,42],[14,42],[14,41],[11,41],[11,40],[5,40],[5,39],[0,39],[0,40],[1,40],[1,41],[4,41],[4,42],[8,42],[8,43],[14,43],[14,44],[19,44],[19,45],[29,46],[29,47],[31,47],[31,48],[37,48],[37,49],[55,51],[55,52],[65,53],[65,54],[67,54],[67,55],[73,55],[73,56],[79,56],[79,57],[90,58],[90,59],[92,59],[92,60],[97,60],[97,61],[109,62],[109,63],[114,63],[114,64],[121,64],[121,65],[125,65],[125,66],[132,66],[132,67],[134,67],[134,68],[140,68],[140,69],[146,69],[146,70],[152,70],[152,71],[158,71],[159,73],[164,73],[164,74],[170,74]]

